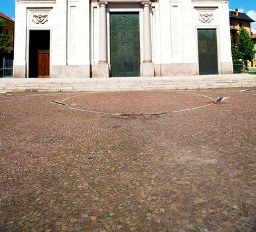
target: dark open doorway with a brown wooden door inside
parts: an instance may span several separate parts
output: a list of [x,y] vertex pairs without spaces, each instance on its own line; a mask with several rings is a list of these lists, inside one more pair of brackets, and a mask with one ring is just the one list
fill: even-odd
[[50,30],[29,32],[29,78],[50,76]]

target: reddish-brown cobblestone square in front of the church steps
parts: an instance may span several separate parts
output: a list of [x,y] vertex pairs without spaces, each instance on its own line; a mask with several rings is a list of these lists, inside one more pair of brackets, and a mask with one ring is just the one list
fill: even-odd
[[256,231],[256,91],[12,93],[0,129],[0,231]]

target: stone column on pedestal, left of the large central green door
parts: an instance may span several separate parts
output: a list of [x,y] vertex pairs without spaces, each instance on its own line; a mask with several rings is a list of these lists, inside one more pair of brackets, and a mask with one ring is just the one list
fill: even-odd
[[107,0],[99,0],[99,64],[96,77],[108,78],[109,65],[107,63]]

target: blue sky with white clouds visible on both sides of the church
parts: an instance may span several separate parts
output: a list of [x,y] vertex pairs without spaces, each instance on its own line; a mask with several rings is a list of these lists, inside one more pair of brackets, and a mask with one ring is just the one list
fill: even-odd
[[[246,13],[256,21],[256,0],[229,0],[229,9],[238,9],[239,12]],[[15,19],[15,0],[0,0],[0,12]],[[256,33],[256,22],[251,23],[251,31]]]

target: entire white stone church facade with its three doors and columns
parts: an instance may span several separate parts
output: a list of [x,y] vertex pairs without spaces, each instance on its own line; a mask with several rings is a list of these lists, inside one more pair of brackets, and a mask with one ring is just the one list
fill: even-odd
[[15,78],[233,73],[227,0],[15,2]]

